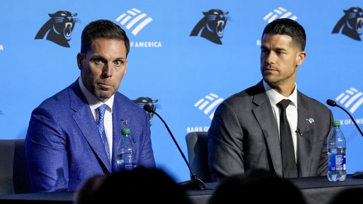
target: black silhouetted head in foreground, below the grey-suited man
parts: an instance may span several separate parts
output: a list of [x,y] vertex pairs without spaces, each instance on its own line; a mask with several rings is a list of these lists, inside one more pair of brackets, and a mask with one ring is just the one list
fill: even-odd
[[253,203],[307,203],[289,180],[258,169],[222,179],[208,204],[244,203],[249,200]]

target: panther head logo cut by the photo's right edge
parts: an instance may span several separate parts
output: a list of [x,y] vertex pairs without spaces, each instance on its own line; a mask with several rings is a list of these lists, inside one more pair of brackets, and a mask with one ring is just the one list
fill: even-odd
[[339,33],[353,38],[354,40],[359,40],[362,33],[363,26],[363,11],[361,8],[352,7],[348,10],[343,10],[345,15],[339,20],[335,25],[332,33]]

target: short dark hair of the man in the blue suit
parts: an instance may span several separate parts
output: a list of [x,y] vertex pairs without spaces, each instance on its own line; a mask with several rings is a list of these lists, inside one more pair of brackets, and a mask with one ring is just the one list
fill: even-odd
[[89,23],[82,31],[81,53],[86,53],[95,39],[108,38],[114,40],[123,40],[126,47],[126,56],[130,51],[130,40],[124,29],[109,20],[97,20]]

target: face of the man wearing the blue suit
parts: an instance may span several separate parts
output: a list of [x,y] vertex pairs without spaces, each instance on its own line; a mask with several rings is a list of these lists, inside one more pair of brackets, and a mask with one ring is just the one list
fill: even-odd
[[98,38],[86,54],[78,53],[83,84],[100,101],[116,93],[127,71],[128,59],[122,40]]

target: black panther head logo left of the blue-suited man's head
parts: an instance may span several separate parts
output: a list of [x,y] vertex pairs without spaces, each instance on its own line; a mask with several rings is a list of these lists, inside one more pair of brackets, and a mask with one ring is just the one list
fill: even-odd
[[68,41],[72,38],[75,23],[79,22],[77,18],[74,18],[77,13],[57,11],[48,15],[50,19],[40,28],[34,39],[43,39],[47,35],[47,40],[64,47],[70,47]]

